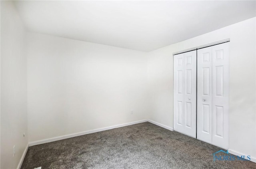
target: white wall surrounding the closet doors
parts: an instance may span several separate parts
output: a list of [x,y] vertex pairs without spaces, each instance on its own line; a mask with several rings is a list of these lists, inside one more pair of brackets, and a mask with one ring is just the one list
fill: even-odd
[[256,18],[148,54],[150,119],[173,127],[172,53],[230,38],[229,149],[256,157]]

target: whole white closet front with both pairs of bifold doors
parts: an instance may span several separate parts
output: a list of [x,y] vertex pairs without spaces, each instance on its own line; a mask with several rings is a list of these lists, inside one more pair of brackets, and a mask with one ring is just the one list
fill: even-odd
[[228,149],[229,43],[174,55],[174,130]]

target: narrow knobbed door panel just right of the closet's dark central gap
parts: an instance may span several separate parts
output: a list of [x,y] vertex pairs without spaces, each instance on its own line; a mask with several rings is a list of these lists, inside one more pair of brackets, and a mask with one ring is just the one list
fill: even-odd
[[197,138],[212,143],[212,47],[197,50]]

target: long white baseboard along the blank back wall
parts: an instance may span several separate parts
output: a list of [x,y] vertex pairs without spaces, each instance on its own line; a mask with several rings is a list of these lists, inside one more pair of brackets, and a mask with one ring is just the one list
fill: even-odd
[[33,141],[33,142],[29,142],[29,146],[39,145],[39,144],[44,144],[44,143],[50,143],[52,141],[68,139],[68,138],[77,137],[77,136],[81,136],[81,135],[96,133],[96,132],[99,132],[99,131],[105,131],[105,130],[124,127],[124,126],[128,126],[128,125],[134,125],[134,124],[138,124],[138,123],[144,123],[146,121],[148,121],[148,120],[145,119],[145,120],[140,120],[140,121],[134,121],[134,122],[130,122],[130,123],[124,123],[124,124],[119,124],[119,125],[113,125],[113,126],[110,126],[110,127],[104,127],[104,128],[100,128],[100,129],[83,131],[83,132],[80,132],[80,133],[74,133],[74,134],[63,135],[63,136],[59,136],[59,137],[53,137],[53,138],[50,138],[50,139],[43,139],[43,140]]

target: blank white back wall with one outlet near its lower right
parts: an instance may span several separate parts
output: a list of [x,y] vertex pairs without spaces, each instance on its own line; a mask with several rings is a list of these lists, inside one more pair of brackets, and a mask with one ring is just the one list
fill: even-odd
[[145,52],[35,33],[27,40],[29,141],[148,118]]

